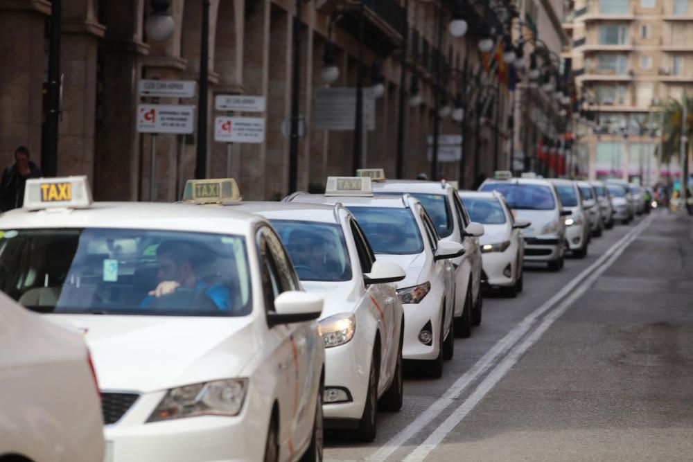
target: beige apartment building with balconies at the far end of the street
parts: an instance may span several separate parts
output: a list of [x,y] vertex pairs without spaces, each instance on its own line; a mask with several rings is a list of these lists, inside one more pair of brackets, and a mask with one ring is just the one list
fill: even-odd
[[656,160],[656,109],[693,94],[693,1],[566,0],[563,23],[581,104],[596,114],[579,140],[590,178],[669,175]]

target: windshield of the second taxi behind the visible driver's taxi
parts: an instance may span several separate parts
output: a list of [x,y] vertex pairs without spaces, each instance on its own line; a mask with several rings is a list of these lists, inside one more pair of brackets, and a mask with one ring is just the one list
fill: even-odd
[[374,254],[421,254],[423,239],[409,208],[349,207]]

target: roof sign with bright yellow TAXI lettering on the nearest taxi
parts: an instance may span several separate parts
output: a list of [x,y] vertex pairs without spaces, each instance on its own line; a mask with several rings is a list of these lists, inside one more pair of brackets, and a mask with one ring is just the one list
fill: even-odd
[[24,188],[24,208],[87,208],[91,199],[85,175],[58,178],[30,178]]

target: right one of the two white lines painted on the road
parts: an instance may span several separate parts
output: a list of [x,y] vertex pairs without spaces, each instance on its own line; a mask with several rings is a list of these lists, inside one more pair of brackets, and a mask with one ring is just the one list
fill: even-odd
[[[428,438],[426,438],[426,441],[424,441],[421,445],[416,447],[407,457],[404,459],[404,462],[419,462],[423,461],[426,459],[428,454],[430,454],[435,448],[443,441],[443,439],[459,425],[460,422],[471,412],[472,409],[486,396],[493,387],[495,387],[495,384],[497,384],[502,377],[504,377],[508,371],[518,362],[520,357],[524,355],[529,348],[531,348],[538,339],[541,338],[541,336],[546,332],[548,328],[556,321],[556,319],[559,319],[563,313],[565,313],[570,306],[579,299],[580,296],[582,296],[592,285],[595,283],[597,278],[602,275],[608,269],[613,265],[613,263],[616,261],[616,259],[626,250],[626,248],[633,242],[638,237],[638,234],[640,234],[647,225],[649,225],[649,222],[651,221],[651,217],[648,217],[646,220],[643,220],[638,226],[636,226],[633,230],[631,230],[630,233],[626,234],[624,238],[622,238],[619,242],[617,242],[615,245],[609,249],[610,251],[604,254],[604,256],[608,255],[608,260],[604,261],[604,265],[598,268],[594,268],[597,263],[599,263],[599,260],[595,262],[593,265],[590,265],[588,269],[592,270],[589,272],[588,277],[584,279],[584,281],[581,281],[581,285],[577,287],[570,296],[568,296],[565,300],[563,300],[562,303],[560,303],[555,310],[552,310],[550,314],[548,314],[539,324],[539,326],[532,332],[529,337],[527,337],[522,343],[520,343],[518,346],[514,347],[510,353],[502,359],[502,361],[498,364],[498,366],[495,366],[493,368],[493,371],[489,373],[489,375],[486,375],[484,380],[479,384],[477,389],[460,405],[455,409],[453,414],[450,414],[446,420],[435,429]],[[613,251],[612,251],[613,250]],[[585,274],[585,272],[582,272],[580,276]]]

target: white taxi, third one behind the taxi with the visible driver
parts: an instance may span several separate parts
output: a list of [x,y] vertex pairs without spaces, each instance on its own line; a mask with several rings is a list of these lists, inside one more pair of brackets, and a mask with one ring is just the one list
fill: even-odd
[[375,181],[373,192],[376,196],[410,193],[426,208],[441,240],[459,242],[464,246],[464,255],[451,260],[455,267],[457,287],[453,316],[455,335],[469,337],[471,326],[479,326],[482,320],[484,300],[481,292],[482,255],[479,238],[484,234],[484,227],[469,219],[464,204],[457,195],[457,189],[446,181]]

